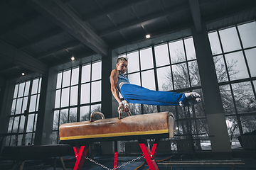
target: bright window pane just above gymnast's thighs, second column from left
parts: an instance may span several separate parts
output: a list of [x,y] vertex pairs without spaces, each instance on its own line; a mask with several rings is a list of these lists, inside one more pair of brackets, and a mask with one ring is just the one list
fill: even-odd
[[156,90],[153,69],[142,72],[142,86],[146,89]]

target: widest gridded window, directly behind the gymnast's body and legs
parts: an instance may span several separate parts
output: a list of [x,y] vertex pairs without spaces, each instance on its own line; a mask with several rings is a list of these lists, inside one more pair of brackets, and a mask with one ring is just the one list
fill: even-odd
[[[128,57],[127,77],[131,84],[157,91],[196,91],[202,95],[192,37],[164,42],[119,56],[122,55]],[[200,140],[210,145],[202,104],[185,108],[130,104],[130,109],[133,115],[161,111],[174,113],[176,129],[172,149],[201,150]],[[191,146],[191,140],[194,146]],[[189,147],[186,148],[185,145]]]

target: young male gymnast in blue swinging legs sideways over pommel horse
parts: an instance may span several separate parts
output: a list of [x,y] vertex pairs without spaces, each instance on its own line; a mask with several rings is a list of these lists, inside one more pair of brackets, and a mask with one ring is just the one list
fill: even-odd
[[[179,94],[171,91],[153,91],[142,86],[130,84],[129,79],[124,76],[127,71],[127,57],[117,58],[117,69],[110,74],[111,91],[119,103],[118,111],[129,111],[129,103],[139,103],[156,106],[190,106],[201,102],[200,95],[196,92]],[[119,92],[124,97],[125,105],[119,97]]]

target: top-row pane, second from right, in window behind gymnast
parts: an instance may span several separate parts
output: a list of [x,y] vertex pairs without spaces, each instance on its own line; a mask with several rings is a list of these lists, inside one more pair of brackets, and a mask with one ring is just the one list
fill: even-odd
[[170,42],[169,49],[171,52],[171,63],[183,62],[186,60],[182,40]]

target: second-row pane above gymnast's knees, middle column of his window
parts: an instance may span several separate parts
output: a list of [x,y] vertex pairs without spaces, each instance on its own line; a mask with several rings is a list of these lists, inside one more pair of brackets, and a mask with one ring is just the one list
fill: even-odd
[[156,69],[159,91],[173,90],[171,79],[171,67],[161,67]]

